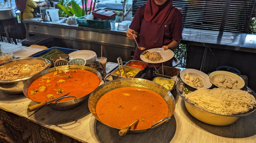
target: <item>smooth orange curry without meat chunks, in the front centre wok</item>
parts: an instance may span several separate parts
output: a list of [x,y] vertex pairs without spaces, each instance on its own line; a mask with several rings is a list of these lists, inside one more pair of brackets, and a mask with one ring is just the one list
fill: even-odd
[[97,102],[99,120],[115,128],[139,122],[131,130],[150,128],[166,118],[168,105],[156,92],[142,87],[122,87],[105,93]]

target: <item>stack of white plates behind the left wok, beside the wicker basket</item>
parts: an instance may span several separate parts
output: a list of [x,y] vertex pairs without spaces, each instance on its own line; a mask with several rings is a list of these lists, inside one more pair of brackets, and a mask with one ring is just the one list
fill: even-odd
[[97,58],[97,54],[90,50],[79,50],[69,53],[69,59],[83,58],[86,60],[86,64],[91,64]]

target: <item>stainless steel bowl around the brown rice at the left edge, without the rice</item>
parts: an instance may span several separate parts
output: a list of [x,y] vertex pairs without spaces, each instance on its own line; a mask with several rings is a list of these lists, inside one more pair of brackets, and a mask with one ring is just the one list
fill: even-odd
[[[15,60],[0,64],[0,69],[9,68],[10,66],[14,66],[17,64],[47,65],[49,63],[50,63],[50,61],[47,59],[44,59],[44,58],[20,58],[20,59],[15,59]],[[50,68],[50,65],[47,65],[43,70],[48,69],[48,68]],[[33,75],[24,77],[24,78],[13,79],[13,80],[0,80],[0,91],[7,93],[7,94],[22,94],[24,84],[32,76]]]

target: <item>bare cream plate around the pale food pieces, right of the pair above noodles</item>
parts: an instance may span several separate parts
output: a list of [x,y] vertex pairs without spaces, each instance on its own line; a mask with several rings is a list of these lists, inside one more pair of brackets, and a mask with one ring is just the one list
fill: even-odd
[[231,78],[237,79],[237,88],[235,88],[235,89],[241,89],[244,87],[244,80],[240,76],[238,76],[237,74],[231,73],[231,72],[227,72],[227,71],[219,70],[219,71],[212,72],[209,75],[209,80],[212,84],[219,87],[218,84],[214,83],[214,81],[216,78],[222,77],[222,75],[224,75],[225,77],[231,77]]

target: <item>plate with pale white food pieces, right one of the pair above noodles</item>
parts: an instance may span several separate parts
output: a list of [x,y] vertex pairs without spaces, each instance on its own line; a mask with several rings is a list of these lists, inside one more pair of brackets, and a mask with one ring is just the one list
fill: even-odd
[[220,88],[241,89],[244,87],[244,80],[240,76],[227,71],[212,72],[209,75],[209,80]]

